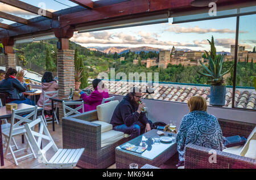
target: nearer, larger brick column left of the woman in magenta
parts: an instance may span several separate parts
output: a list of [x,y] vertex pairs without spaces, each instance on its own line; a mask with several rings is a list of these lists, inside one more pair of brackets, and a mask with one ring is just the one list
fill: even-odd
[[[75,91],[74,55],[74,50],[58,50],[57,74],[59,78],[59,96],[68,96],[70,88]],[[62,120],[63,117],[63,106],[59,104],[59,119]]]

